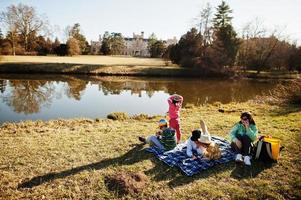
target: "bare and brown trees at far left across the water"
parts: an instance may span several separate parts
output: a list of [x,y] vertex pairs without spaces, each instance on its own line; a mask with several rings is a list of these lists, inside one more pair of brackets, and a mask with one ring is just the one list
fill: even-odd
[[0,13],[0,20],[7,29],[3,36],[0,29],[1,55],[78,55],[90,52],[86,38],[80,32],[80,25],[67,27],[67,42],[58,38],[52,41],[46,37],[49,32],[48,21],[36,10],[24,4],[11,5]]

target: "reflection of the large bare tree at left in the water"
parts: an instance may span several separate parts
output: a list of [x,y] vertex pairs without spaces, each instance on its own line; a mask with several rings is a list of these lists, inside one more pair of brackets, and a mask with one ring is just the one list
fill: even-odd
[[54,86],[43,80],[10,80],[11,91],[4,101],[17,113],[38,113],[42,106],[51,104]]

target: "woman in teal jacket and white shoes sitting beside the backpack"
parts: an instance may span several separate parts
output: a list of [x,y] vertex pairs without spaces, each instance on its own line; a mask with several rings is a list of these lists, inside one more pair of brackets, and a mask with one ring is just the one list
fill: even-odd
[[231,147],[237,153],[235,161],[251,165],[251,145],[258,130],[251,113],[243,112],[240,121],[230,131]]

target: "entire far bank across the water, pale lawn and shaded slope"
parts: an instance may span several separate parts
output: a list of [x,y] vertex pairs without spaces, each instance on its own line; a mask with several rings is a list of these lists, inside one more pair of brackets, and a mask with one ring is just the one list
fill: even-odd
[[[86,74],[150,77],[229,77],[199,69],[165,65],[162,59],[113,56],[3,56],[0,73]],[[297,72],[237,72],[231,78],[296,79]]]

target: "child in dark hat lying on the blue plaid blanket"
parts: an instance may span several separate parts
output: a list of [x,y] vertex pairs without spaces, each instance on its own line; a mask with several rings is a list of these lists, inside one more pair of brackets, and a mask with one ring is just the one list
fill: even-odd
[[201,120],[200,124],[202,132],[200,130],[192,131],[192,136],[186,142],[187,156],[196,159],[197,157],[193,155],[193,151],[195,151],[197,155],[204,155],[210,160],[219,159],[221,157],[219,146],[211,141],[205,122]]

